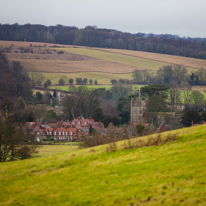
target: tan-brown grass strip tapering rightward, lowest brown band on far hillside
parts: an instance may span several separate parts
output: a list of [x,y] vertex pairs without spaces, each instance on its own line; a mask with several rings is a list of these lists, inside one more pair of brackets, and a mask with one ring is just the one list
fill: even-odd
[[113,74],[127,74],[132,73],[135,69],[142,70],[142,68],[98,59],[71,61],[11,58],[11,60],[20,61],[27,70],[34,68],[35,71],[44,73],[104,72]]

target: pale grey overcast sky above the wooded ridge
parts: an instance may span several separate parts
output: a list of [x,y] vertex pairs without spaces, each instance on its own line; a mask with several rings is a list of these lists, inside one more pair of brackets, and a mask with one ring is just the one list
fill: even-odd
[[1,24],[206,37],[206,0],[0,0]]

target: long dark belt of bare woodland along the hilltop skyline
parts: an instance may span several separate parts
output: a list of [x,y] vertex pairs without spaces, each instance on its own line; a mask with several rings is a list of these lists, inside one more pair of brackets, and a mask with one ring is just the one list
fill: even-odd
[[31,42],[128,49],[206,59],[206,40],[201,38],[148,36],[93,26],[78,29],[62,25],[0,24],[0,40],[23,41],[25,38]]

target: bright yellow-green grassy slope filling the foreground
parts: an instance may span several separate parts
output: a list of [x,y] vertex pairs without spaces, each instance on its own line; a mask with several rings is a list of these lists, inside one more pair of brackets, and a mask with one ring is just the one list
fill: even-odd
[[0,205],[205,205],[206,126],[162,146],[0,164]]

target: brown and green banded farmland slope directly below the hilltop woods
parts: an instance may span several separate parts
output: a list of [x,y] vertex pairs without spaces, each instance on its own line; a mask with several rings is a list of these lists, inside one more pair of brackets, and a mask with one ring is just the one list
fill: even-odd
[[193,68],[205,68],[206,65],[206,60],[172,55],[38,42],[0,41],[0,48],[11,60],[20,61],[26,69],[39,72],[131,73],[134,69],[156,71],[168,63],[182,64],[194,71]]

